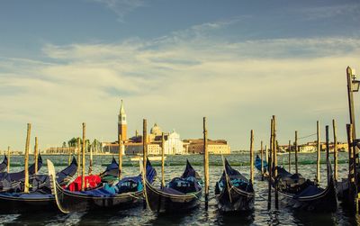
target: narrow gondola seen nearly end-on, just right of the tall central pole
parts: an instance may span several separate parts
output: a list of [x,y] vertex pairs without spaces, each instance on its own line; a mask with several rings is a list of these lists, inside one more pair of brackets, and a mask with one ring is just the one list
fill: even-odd
[[254,209],[252,182],[224,160],[224,170],[215,185],[215,196],[221,212],[249,212]]

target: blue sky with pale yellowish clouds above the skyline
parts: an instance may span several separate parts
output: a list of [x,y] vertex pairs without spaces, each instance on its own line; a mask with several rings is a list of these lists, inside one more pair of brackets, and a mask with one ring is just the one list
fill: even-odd
[[147,119],[201,138],[206,116],[210,139],[249,149],[254,130],[258,149],[276,115],[280,144],[318,120],[324,140],[332,119],[345,141],[359,12],[359,1],[3,0],[0,149],[23,150],[28,122],[40,149],[81,136],[82,122],[87,138],[116,140],[121,99],[130,135]]

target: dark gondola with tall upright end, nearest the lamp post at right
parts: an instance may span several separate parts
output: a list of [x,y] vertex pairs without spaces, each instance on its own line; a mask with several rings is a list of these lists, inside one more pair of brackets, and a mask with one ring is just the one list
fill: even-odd
[[338,197],[334,176],[328,160],[328,185],[321,188],[301,174],[291,174],[284,167],[277,167],[278,191],[284,203],[294,210],[335,212]]

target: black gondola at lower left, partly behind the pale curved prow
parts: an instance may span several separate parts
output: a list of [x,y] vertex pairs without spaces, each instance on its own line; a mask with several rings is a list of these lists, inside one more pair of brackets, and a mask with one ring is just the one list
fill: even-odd
[[[58,172],[58,183],[66,183],[68,177],[76,174],[76,170],[77,163],[73,158],[68,167]],[[0,193],[0,213],[56,211],[58,208],[54,195],[51,194],[49,181],[48,175],[34,175],[30,178],[31,189],[28,194],[23,192]]]

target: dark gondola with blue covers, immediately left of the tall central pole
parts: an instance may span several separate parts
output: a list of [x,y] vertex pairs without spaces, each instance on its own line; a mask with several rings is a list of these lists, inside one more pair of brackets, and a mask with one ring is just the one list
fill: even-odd
[[165,187],[157,188],[143,178],[148,208],[153,212],[188,212],[199,204],[202,180],[188,160],[184,173],[173,178]]

